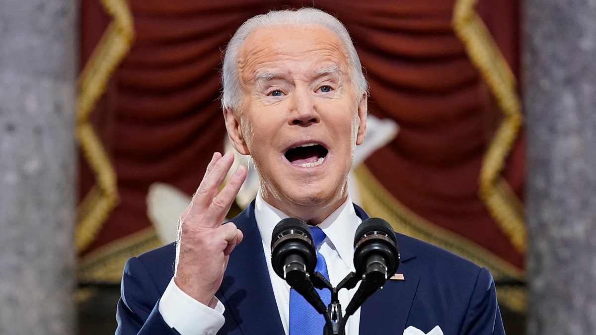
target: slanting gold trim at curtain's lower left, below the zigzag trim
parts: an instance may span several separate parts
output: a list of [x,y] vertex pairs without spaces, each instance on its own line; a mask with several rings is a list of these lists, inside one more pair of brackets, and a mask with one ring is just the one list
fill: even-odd
[[[79,261],[79,281],[120,283],[126,260],[163,246],[154,228],[141,231],[106,244]],[[172,264],[173,266],[173,264]]]

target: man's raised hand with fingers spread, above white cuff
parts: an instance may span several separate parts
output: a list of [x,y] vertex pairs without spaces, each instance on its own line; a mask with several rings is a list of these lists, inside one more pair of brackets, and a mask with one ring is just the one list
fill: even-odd
[[228,264],[229,254],[243,234],[232,222],[223,224],[229,207],[238,194],[246,167],[240,166],[220,191],[234,162],[234,154],[213,154],[203,181],[193,200],[178,221],[174,282],[198,302],[215,306]]

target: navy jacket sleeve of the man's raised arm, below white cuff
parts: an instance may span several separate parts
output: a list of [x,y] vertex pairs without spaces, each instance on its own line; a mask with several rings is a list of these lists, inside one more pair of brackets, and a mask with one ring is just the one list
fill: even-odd
[[138,258],[126,262],[116,309],[116,334],[176,334],[159,312],[160,291]]

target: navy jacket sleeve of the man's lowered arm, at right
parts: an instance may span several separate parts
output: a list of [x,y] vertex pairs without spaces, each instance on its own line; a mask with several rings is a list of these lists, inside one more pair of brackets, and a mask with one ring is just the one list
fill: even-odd
[[505,335],[501,311],[496,301],[495,281],[486,269],[480,269],[468,303],[461,334]]

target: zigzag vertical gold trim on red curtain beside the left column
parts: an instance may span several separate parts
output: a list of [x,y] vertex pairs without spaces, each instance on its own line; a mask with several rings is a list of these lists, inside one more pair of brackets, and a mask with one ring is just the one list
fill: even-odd
[[132,15],[126,1],[102,0],[101,4],[113,20],[79,76],[77,95],[76,138],[97,182],[77,209],[75,246],[79,252],[94,240],[118,202],[116,172],[89,123],[89,114],[134,39]]

